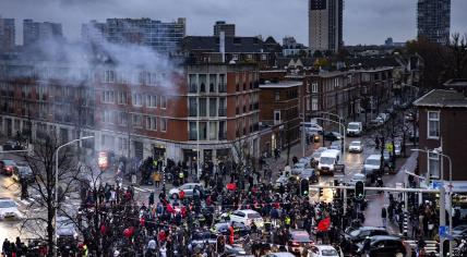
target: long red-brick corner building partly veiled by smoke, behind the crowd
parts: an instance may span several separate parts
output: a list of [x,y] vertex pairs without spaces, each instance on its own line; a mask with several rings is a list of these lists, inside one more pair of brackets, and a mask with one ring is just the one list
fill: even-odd
[[[253,64],[185,65],[183,72],[82,71],[86,83],[31,63],[0,64],[0,132],[61,142],[93,135],[87,151],[175,161],[229,158],[232,144],[259,152],[259,72]],[[63,71],[63,70],[60,70]],[[166,79],[173,86],[167,87]],[[200,150],[200,154],[197,154]]]

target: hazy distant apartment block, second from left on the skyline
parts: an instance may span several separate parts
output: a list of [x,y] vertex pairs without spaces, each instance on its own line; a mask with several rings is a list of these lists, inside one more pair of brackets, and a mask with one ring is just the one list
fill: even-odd
[[62,25],[51,22],[23,20],[23,45],[29,46],[40,40],[63,38]]

